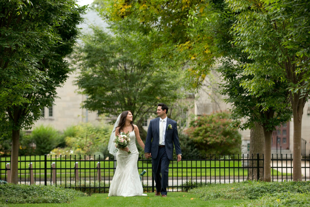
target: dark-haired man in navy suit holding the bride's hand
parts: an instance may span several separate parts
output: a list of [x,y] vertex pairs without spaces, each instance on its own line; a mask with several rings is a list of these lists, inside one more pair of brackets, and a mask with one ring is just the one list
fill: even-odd
[[156,182],[155,196],[167,197],[169,162],[172,160],[173,144],[178,162],[181,161],[181,148],[176,121],[167,117],[168,106],[157,105],[156,119],[152,119],[146,135],[144,155],[152,157],[153,178]]

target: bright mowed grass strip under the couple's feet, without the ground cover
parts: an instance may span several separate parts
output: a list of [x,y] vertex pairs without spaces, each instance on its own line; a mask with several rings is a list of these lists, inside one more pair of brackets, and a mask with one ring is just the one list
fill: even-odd
[[168,192],[167,197],[154,196],[155,193],[147,193],[148,196],[134,197],[108,197],[107,193],[93,194],[91,196],[78,197],[68,204],[11,204],[5,206],[234,206],[247,200],[202,200],[196,194],[185,192]]

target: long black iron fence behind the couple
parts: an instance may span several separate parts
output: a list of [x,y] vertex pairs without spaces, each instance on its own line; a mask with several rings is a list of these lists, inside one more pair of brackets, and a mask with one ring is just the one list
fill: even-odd
[[[305,156],[306,157],[306,156]],[[206,183],[231,183],[256,180],[262,172],[263,155],[183,156],[170,161],[169,191],[187,191]],[[292,180],[292,155],[272,155],[272,181]],[[108,192],[117,162],[100,156],[20,156],[20,184],[55,185],[81,191]],[[309,158],[302,158],[303,180],[309,178]],[[141,157],[138,170],[145,191],[154,192],[151,160]],[[8,181],[10,157],[0,157],[0,180]]]

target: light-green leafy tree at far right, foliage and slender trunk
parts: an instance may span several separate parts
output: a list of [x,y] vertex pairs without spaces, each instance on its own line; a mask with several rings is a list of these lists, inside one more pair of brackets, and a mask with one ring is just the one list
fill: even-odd
[[[308,1],[227,1],[237,21],[232,27],[234,44],[244,47],[253,63],[244,64],[250,74],[277,74],[287,85],[293,111],[293,180],[301,180],[301,121],[303,107],[309,98]],[[259,62],[259,64],[257,64]],[[266,67],[267,65],[267,67]],[[260,79],[244,81],[244,87],[260,93]]]

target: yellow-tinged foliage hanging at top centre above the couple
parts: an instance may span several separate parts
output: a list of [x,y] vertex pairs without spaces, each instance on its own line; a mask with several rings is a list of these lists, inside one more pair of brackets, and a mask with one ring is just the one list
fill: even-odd
[[[96,3],[99,6],[100,0]],[[214,1],[219,2],[219,1]],[[221,0],[221,2],[223,2]],[[210,2],[212,3],[212,2]],[[170,70],[181,66],[188,69],[188,88],[199,88],[210,67],[215,63],[215,53],[210,52],[212,38],[204,30],[198,35],[188,34],[188,22],[196,9],[204,11],[209,2],[204,1],[109,1],[99,9],[110,22],[126,22],[123,29],[139,30],[153,40],[154,60]],[[209,12],[209,10],[207,10]],[[209,13],[203,13],[208,15]],[[206,18],[206,16],[204,18]]]

